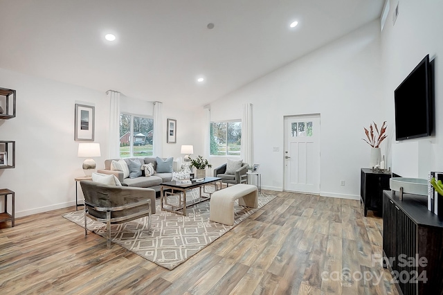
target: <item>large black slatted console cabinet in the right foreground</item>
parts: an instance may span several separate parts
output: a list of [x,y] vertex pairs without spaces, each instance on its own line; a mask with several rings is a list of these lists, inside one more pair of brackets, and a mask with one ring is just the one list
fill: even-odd
[[443,294],[443,217],[427,196],[383,192],[383,256],[404,295]]

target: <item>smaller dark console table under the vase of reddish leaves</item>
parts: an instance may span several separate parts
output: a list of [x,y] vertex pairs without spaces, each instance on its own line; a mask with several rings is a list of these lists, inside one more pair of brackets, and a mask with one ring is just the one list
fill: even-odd
[[382,212],[383,190],[389,190],[390,172],[372,171],[370,168],[361,168],[360,196],[365,208],[365,216],[368,209]]

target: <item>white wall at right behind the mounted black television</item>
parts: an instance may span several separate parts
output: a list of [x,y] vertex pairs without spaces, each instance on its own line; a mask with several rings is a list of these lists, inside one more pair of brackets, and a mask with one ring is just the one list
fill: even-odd
[[428,171],[443,171],[443,117],[440,116],[443,111],[443,2],[401,0],[394,25],[392,14],[397,3],[398,0],[390,1],[390,12],[381,33],[383,98],[388,120],[392,123],[395,120],[394,90],[429,54],[435,61],[435,135],[395,142],[393,133],[392,171],[403,177],[426,179]]

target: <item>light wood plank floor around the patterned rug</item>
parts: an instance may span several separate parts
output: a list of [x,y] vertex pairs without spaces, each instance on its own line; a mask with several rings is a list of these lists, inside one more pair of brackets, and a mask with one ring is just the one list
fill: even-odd
[[85,238],[62,217],[73,207],[0,223],[0,294],[397,294],[371,260],[380,217],[359,201],[265,193],[278,197],[172,271]]

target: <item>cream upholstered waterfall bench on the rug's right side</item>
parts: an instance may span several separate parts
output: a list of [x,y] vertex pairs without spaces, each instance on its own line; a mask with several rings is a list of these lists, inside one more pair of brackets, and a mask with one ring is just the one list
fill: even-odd
[[238,199],[240,206],[258,207],[257,186],[236,184],[217,190],[210,197],[209,220],[226,225],[234,224],[234,202]]

